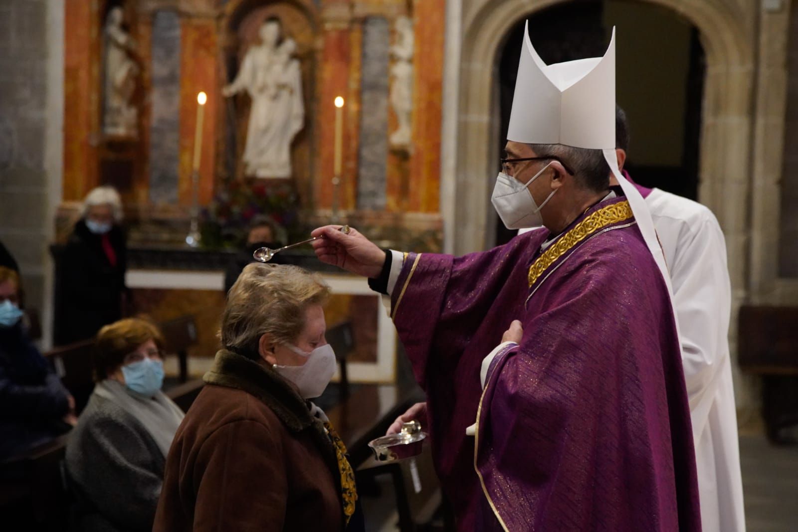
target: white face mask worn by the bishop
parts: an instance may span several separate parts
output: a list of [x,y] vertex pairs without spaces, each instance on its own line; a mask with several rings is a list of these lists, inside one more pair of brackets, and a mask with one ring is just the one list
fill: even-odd
[[518,179],[505,174],[504,171],[499,172],[496,177],[496,187],[493,187],[491,203],[493,203],[493,208],[496,209],[496,212],[499,213],[499,218],[505,227],[508,229],[525,229],[543,225],[540,209],[548,203],[548,200],[551,199],[556,190],[551,191],[551,194],[538,207],[527,187],[529,183],[538,179],[538,176],[550,164],[541,168],[538,173],[532,176],[532,179],[527,181],[527,184],[522,184]]

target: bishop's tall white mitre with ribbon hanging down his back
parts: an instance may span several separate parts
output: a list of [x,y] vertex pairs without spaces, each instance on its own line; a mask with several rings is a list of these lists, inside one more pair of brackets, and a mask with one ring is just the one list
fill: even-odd
[[[604,57],[546,65],[529,40],[521,45],[516,92],[507,140],[524,144],[565,144],[602,150],[618,179],[670,294],[670,274],[654,222],[637,188],[618,170],[615,156],[615,29]],[[567,161],[566,161],[567,163]]]

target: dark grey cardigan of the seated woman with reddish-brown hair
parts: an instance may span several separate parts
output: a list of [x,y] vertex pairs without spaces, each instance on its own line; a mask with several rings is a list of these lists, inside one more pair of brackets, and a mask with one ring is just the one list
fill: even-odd
[[78,530],[150,532],[165,462],[143,424],[93,394],[66,447]]

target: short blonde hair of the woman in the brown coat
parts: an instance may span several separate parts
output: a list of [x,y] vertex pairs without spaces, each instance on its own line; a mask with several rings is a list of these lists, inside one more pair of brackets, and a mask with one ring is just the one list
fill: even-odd
[[260,337],[296,341],[307,307],[324,305],[328,298],[330,287],[322,278],[299,266],[247,264],[227,294],[219,338],[225,349],[257,357]]

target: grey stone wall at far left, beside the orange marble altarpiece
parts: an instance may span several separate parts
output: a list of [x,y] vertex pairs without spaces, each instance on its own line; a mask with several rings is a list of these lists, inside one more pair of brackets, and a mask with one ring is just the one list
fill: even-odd
[[[0,240],[17,259],[22,270],[26,302],[46,316],[45,296],[50,278],[47,245],[52,233],[53,167],[50,134],[53,124],[60,128],[60,116],[53,115],[53,37],[62,38],[52,0],[0,0]],[[57,79],[57,83],[61,83]],[[62,94],[62,93],[61,93]],[[57,107],[57,103],[55,104]],[[57,191],[55,203],[60,200]]]

